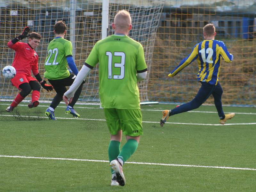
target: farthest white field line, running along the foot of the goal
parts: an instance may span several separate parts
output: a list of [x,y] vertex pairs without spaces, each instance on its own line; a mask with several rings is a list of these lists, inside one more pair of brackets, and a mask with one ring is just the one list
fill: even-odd
[[[9,104],[0,103],[0,105],[9,106]],[[19,104],[19,106],[28,106],[24,104]],[[37,107],[49,107],[49,105],[38,105]],[[58,108],[67,108],[66,106],[58,106]],[[75,108],[82,108],[82,109],[100,109],[98,107],[78,107]],[[163,109],[140,109],[141,111],[163,111]],[[215,111],[188,111],[189,113],[218,113]],[[239,113],[239,112],[226,112],[226,113],[236,113],[236,114],[243,114],[243,115],[256,115],[256,113]]]

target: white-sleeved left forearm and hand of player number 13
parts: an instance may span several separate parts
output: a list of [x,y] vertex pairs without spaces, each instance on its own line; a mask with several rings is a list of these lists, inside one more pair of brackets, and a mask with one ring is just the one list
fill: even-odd
[[78,87],[83,83],[85,77],[89,74],[89,72],[92,69],[87,67],[86,65],[83,65],[79,73],[77,74],[75,81],[73,84],[69,87],[68,91],[66,91],[63,95],[63,100],[66,104],[68,104],[68,99],[72,98],[78,89]]

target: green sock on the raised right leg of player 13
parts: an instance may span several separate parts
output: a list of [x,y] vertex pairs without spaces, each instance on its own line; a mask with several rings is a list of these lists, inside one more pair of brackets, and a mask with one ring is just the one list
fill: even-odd
[[122,150],[117,158],[122,159],[123,162],[127,161],[127,159],[129,159],[130,156],[132,156],[132,154],[136,151],[137,147],[138,142],[134,139],[129,139],[122,147]]

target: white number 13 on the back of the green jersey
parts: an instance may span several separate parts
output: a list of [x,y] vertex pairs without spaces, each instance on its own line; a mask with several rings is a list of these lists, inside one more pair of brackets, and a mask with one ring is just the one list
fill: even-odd
[[[112,79],[112,52],[107,51],[106,56],[108,56],[108,79]],[[113,75],[113,79],[123,79],[125,54],[124,52],[114,52],[114,56],[121,57],[121,63],[114,63],[114,67],[120,68],[120,75]]]

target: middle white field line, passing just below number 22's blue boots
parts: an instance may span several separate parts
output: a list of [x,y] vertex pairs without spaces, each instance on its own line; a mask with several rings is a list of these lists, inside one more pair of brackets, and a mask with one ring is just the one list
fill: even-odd
[[[24,115],[0,115],[0,116],[9,116],[9,117],[31,117],[31,118],[48,118],[41,116],[24,116]],[[66,117],[55,117],[56,119],[72,119],[72,120],[91,120],[91,121],[106,121],[106,119],[87,119],[87,118],[66,118]],[[157,123],[156,121],[142,121],[142,123]],[[203,123],[174,123],[166,122],[166,124],[182,124],[182,125],[209,125],[209,126],[223,126],[222,124],[203,124]],[[224,125],[254,125],[256,123],[229,123]]]

